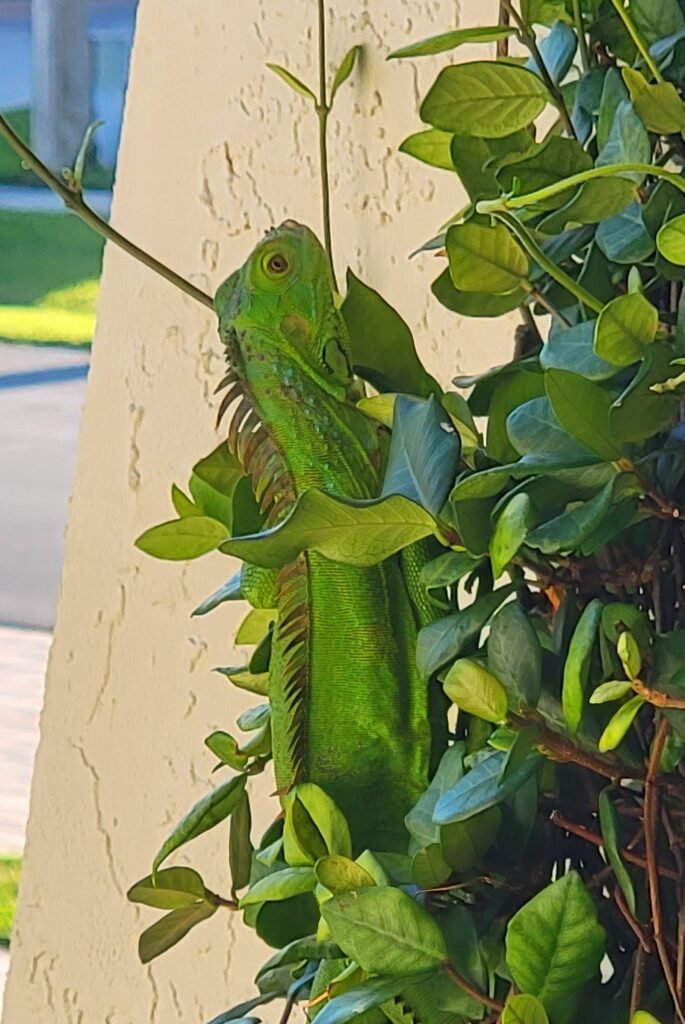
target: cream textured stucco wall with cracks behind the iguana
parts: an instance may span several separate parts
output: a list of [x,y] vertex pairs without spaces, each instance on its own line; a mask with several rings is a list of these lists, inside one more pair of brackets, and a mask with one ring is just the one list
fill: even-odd
[[[436,261],[406,259],[462,197],[396,153],[444,58],[384,56],[495,9],[347,0],[331,16],[332,65],[365,46],[331,130],[339,270],[351,264],[396,304],[445,381],[506,358],[511,325],[446,313],[428,291]],[[313,0],[141,0],[113,219],[206,289],[284,217],[318,226],[313,116],[264,71],[275,60],[314,79],[313,20]],[[110,247],[4,1024],[203,1024],[251,991],[263,950],[236,921],[217,913],[144,969],[136,939],[155,912],[124,898],[211,784],[204,736],[248,702],[211,673],[237,656],[238,609],[188,617],[229,561],[160,563],[133,548],[168,517],[171,481],[217,442],[220,375],[212,316]],[[258,810],[265,822],[265,799]],[[198,840],[192,861],[225,890],[225,831]]]

